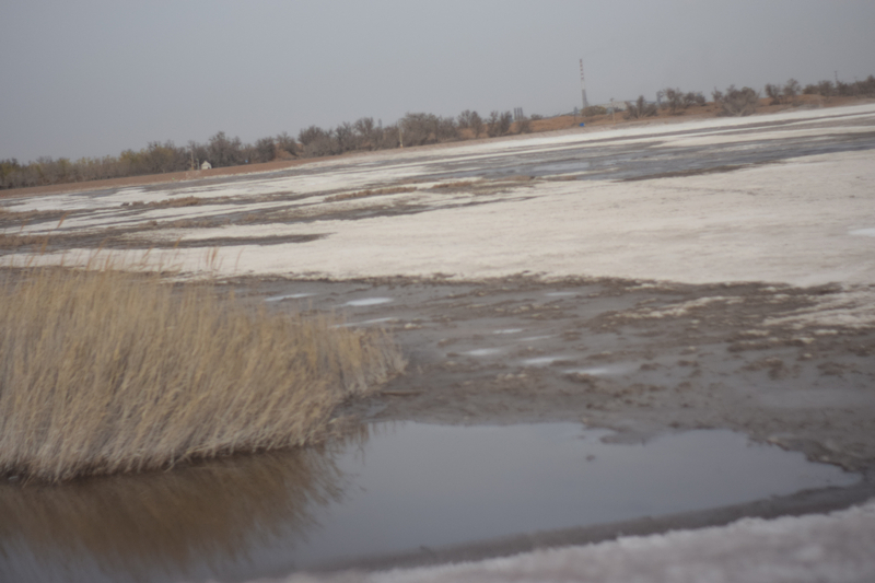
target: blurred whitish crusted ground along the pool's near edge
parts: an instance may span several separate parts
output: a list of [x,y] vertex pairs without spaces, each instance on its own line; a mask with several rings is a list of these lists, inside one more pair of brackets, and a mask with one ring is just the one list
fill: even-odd
[[863,583],[875,581],[875,500],[830,514],[627,536],[500,559],[383,572],[294,574],[288,583]]

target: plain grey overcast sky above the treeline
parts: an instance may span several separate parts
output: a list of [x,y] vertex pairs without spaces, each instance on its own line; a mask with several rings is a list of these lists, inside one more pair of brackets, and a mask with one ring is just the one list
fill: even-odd
[[875,74],[873,0],[0,0],[0,159]]

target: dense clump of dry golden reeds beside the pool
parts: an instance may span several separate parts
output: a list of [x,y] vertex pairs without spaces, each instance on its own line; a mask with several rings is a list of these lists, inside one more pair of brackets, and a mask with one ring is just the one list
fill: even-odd
[[404,365],[381,331],[159,276],[33,268],[0,299],[0,475],[59,481],[305,444]]

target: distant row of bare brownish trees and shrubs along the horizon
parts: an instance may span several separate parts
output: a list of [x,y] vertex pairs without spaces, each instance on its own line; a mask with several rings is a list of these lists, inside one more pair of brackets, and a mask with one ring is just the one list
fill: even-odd
[[[833,96],[875,95],[875,77],[864,81],[844,83],[820,81],[802,88],[793,79],[784,85],[766,85],[771,103],[792,103],[798,94]],[[714,102],[722,105],[725,115],[748,115],[756,108],[759,92],[750,88],[726,92],[714,90]],[[663,101],[665,100],[665,101]],[[692,105],[703,105],[700,92],[684,93],[678,89],[665,89],[657,94],[662,108],[679,114]],[[576,110],[576,108],[575,108]],[[584,116],[602,115],[604,107],[590,107]],[[644,100],[626,103],[626,117],[637,118],[657,114],[657,106]],[[270,162],[278,158],[315,158],[337,155],[357,150],[388,150],[393,148],[448,142],[466,138],[505,136],[532,131],[530,120],[540,116],[514,119],[510,112],[492,112],[482,118],[477,112],[465,110],[457,117],[441,117],[432,114],[407,114],[396,124],[383,126],[372,117],[363,117],[355,123],[345,121],[336,128],[323,129],[311,126],[298,133],[298,139],[287,132],[275,138],[261,138],[254,144],[241,142],[240,138],[229,138],[220,131],[207,143],[189,141],[188,145],[175,145],[172,141],[150,142],[142,150],[125,150],[118,156],[82,158],[71,161],[67,158],[38,158],[35,162],[21,164],[15,159],[0,160],[0,189],[44,186],[61,183],[100,180],[144,174],[162,174],[197,170],[203,162],[212,167],[238,166],[258,162]]]

